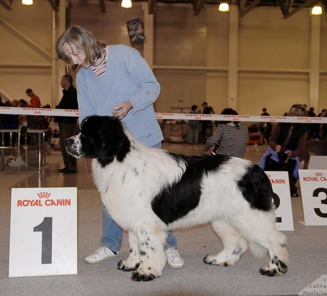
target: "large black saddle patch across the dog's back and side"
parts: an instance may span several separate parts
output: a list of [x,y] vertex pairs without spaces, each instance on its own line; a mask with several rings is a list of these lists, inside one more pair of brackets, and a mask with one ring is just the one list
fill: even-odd
[[178,158],[185,160],[188,166],[179,182],[164,188],[152,200],[152,210],[166,224],[180,219],[198,206],[202,176],[209,171],[218,170],[230,159],[218,154],[205,157],[172,155],[176,161]]

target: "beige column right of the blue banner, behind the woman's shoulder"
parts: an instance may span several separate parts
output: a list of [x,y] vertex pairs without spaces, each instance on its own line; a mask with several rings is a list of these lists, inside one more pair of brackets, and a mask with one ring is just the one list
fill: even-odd
[[143,2],[144,11],[144,46],[143,56],[148,62],[150,68],[153,68],[153,14],[149,14],[149,7],[147,2]]

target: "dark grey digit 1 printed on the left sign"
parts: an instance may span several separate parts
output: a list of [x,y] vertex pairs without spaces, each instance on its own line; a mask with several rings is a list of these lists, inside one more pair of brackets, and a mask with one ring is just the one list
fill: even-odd
[[33,228],[33,232],[42,232],[42,264],[52,263],[52,217],[44,217],[41,224]]

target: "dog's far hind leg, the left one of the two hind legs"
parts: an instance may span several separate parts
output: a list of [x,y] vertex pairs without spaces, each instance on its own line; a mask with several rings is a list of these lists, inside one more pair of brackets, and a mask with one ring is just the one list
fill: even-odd
[[212,265],[235,265],[247,250],[246,240],[226,221],[214,221],[212,227],[221,238],[224,249],[217,255],[205,256],[203,262]]

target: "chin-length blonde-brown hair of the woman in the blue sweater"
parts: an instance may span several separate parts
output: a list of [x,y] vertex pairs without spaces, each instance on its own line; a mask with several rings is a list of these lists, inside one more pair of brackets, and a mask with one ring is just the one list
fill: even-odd
[[68,68],[76,69],[78,65],[74,65],[72,59],[63,51],[63,44],[67,43],[72,48],[73,54],[84,52],[86,55],[84,64],[90,66],[99,59],[103,53],[103,48],[106,46],[104,42],[96,40],[93,35],[86,29],[73,26],[61,34],[57,43],[56,51],[60,60],[68,63]]

